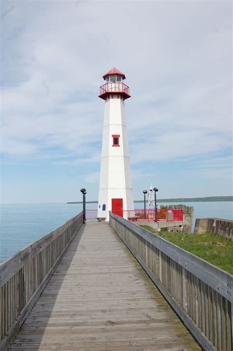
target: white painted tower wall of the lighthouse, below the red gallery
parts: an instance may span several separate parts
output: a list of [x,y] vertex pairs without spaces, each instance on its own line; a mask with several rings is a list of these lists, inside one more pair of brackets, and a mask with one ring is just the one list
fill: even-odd
[[[120,136],[120,146],[113,146],[112,135]],[[113,95],[105,101],[104,108],[97,217],[108,221],[112,199],[118,198],[123,199],[123,211],[134,210],[124,101]]]

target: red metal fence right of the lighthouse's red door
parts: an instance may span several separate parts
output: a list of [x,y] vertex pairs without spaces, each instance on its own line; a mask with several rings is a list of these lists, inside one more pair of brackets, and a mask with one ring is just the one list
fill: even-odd
[[[121,216],[122,211],[114,211]],[[130,210],[123,211],[123,218],[130,222],[172,222],[183,221],[183,210],[159,209],[159,210]]]

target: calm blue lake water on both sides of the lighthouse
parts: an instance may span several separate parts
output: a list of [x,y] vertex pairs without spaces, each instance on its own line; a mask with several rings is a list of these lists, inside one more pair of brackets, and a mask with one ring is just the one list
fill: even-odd
[[[159,203],[158,205],[179,203]],[[233,219],[233,202],[191,202],[196,218],[218,217]],[[135,203],[135,209],[142,209],[143,203]],[[82,211],[82,204],[22,204],[0,205],[0,262],[12,256],[25,246],[59,227]],[[87,209],[97,209],[97,204],[87,204]]]

